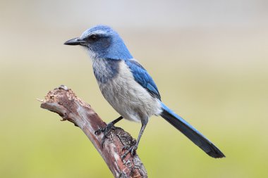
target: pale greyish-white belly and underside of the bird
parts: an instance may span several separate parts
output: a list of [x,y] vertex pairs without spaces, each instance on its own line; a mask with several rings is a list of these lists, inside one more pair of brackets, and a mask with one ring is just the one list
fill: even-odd
[[[103,69],[101,61],[93,67]],[[103,71],[99,71],[103,72]],[[119,63],[119,73],[109,82],[98,82],[104,98],[125,119],[147,122],[152,115],[162,113],[159,99],[152,97],[138,82],[135,82],[130,69],[124,61]]]

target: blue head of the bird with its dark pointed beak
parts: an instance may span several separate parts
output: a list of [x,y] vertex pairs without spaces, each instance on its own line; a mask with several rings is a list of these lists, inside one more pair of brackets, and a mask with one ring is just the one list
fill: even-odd
[[83,32],[80,37],[70,39],[64,44],[84,46],[90,52],[90,57],[94,59],[127,60],[133,58],[119,34],[106,25],[92,27]]

